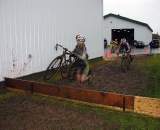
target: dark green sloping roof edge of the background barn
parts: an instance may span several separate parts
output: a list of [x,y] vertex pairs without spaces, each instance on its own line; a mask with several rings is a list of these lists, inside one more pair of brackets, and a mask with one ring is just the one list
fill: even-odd
[[108,18],[108,17],[116,17],[116,18],[119,18],[119,19],[122,19],[122,20],[126,20],[128,22],[132,22],[132,23],[135,23],[135,24],[139,24],[139,25],[142,25],[142,26],[145,26],[147,27],[151,32],[153,32],[152,28],[147,24],[147,23],[143,23],[143,22],[140,22],[140,21],[137,21],[137,20],[133,20],[133,19],[130,19],[130,18],[127,18],[127,17],[123,17],[123,16],[120,16],[120,15],[116,15],[116,14],[107,14],[104,16],[104,19]]

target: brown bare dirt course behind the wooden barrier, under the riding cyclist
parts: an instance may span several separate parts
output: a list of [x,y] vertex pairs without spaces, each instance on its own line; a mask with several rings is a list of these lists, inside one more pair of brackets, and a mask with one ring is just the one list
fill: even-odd
[[130,70],[125,73],[120,69],[120,61],[112,61],[96,66],[92,70],[92,75],[94,76],[91,80],[84,84],[69,80],[60,80],[56,84],[127,95],[143,95],[146,89],[147,76],[136,67],[134,62]]

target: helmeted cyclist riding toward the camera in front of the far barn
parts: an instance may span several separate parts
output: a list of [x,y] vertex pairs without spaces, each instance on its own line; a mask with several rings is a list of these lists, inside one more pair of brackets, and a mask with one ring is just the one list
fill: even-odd
[[122,53],[123,51],[125,51],[125,53],[127,53],[127,56],[129,56],[130,60],[132,61],[133,58],[131,56],[131,47],[129,45],[129,43],[127,42],[127,40],[125,38],[122,38],[121,39],[121,42],[120,42],[120,45],[119,45],[119,49],[118,49],[118,56],[119,56],[119,53]]

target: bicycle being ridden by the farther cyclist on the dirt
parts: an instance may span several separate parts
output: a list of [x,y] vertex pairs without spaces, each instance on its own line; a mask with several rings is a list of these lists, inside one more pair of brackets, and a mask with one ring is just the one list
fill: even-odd
[[121,53],[122,53],[122,57],[121,57],[121,70],[123,72],[126,72],[126,71],[128,71],[130,69],[130,64],[133,61],[133,57],[131,57],[131,55],[128,54],[125,49],[123,49],[121,51]]

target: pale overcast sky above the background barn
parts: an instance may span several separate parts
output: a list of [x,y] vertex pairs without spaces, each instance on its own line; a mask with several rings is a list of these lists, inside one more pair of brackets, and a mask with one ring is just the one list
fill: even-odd
[[109,13],[147,23],[160,34],[160,0],[103,0],[103,14]]

